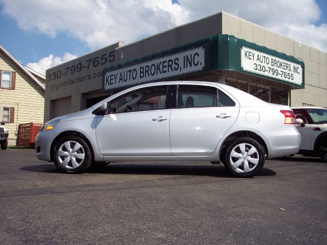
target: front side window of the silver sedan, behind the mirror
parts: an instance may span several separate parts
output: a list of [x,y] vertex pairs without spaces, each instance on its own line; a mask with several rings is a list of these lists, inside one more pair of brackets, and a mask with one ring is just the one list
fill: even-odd
[[127,93],[109,103],[111,113],[165,109],[167,86],[150,87]]

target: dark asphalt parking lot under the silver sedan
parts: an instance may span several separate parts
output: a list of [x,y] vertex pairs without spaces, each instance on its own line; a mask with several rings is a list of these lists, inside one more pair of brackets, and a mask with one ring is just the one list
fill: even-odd
[[59,173],[0,151],[0,244],[326,244],[327,164],[267,160],[253,178],[209,162]]

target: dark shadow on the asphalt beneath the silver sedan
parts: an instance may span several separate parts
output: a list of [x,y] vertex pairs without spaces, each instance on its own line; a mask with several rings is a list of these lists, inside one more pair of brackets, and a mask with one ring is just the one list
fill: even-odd
[[[40,173],[61,173],[54,164],[32,165],[20,170]],[[224,166],[217,165],[150,165],[150,164],[108,164],[107,166],[90,166],[85,174],[120,174],[120,175],[185,175],[211,176],[221,178],[235,177]],[[262,168],[255,176],[275,176],[268,168]]]

